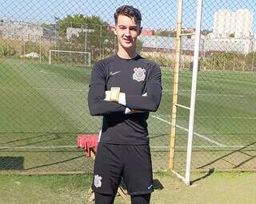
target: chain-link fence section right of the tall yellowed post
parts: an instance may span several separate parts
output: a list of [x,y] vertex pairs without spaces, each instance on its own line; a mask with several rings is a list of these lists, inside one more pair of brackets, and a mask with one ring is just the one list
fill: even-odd
[[[197,2],[183,1],[178,104],[190,107]],[[192,170],[255,170],[255,2],[204,1]],[[192,35],[190,35],[190,33]],[[190,110],[178,107],[174,171],[184,175]]]

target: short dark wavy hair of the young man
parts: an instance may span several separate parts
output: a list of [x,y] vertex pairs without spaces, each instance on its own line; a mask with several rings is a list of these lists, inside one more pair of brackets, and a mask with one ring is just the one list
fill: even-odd
[[118,23],[119,15],[124,15],[129,18],[134,18],[134,22],[138,23],[139,26],[141,25],[142,14],[138,9],[134,8],[133,6],[128,6],[128,5],[120,6],[114,13],[115,24]]

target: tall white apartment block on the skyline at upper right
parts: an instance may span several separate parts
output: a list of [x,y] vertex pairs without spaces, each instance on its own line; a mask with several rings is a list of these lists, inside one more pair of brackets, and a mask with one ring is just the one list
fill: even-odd
[[210,38],[246,38],[251,37],[253,14],[250,10],[218,10],[214,14],[214,32]]

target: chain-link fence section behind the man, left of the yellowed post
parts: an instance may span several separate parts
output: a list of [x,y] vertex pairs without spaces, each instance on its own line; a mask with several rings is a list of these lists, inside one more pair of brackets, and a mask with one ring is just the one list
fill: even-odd
[[25,2],[2,2],[0,9],[0,170],[92,171],[77,135],[100,129],[102,118],[87,106],[90,73],[117,52],[114,12],[124,4],[142,12],[138,52],[162,66],[162,104],[148,124],[154,171],[167,169],[170,126],[158,116],[171,112],[175,3]]

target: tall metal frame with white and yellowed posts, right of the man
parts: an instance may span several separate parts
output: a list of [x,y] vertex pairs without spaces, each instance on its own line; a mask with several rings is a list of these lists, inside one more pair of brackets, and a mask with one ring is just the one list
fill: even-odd
[[[194,37],[194,61],[193,61],[193,73],[191,83],[191,94],[190,94],[190,107],[186,107],[182,104],[178,104],[178,72],[180,64],[180,47],[181,47],[181,28],[182,28],[182,2],[178,0],[178,20],[177,20],[177,36],[176,36],[176,62],[174,67],[174,92],[173,92],[173,109],[172,109],[172,124],[171,124],[171,135],[170,135],[170,169],[182,179],[187,186],[190,186],[190,171],[191,171],[191,160],[192,160],[192,148],[193,148],[193,136],[194,136],[194,108],[196,102],[197,92],[197,79],[198,79],[198,57],[200,47],[200,35],[201,35],[201,24],[202,24],[202,2],[203,0],[197,0],[197,14],[196,14],[196,26],[195,26],[195,37]],[[187,35],[187,34],[186,34]],[[191,35],[191,34],[190,34]],[[177,118],[177,107],[186,108],[190,111],[189,128],[188,128],[188,140],[186,150],[186,175],[185,177],[179,175],[178,172],[174,171],[174,147],[175,147],[175,128],[178,127]]]

